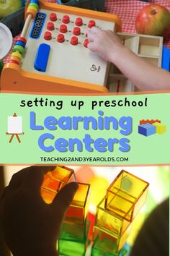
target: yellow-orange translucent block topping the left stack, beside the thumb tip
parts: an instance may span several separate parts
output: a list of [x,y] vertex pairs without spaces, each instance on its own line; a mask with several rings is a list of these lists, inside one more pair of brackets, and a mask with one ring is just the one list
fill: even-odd
[[66,212],[64,221],[84,224],[89,208],[90,184],[78,183],[79,188],[73,197],[70,207]]

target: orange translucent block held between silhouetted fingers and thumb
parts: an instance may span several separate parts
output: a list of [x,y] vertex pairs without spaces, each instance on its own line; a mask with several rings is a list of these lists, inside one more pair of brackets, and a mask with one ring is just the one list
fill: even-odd
[[41,185],[41,196],[47,203],[53,202],[58,191],[68,182],[75,182],[75,174],[71,168],[66,166],[56,166],[53,171],[49,171],[44,176]]

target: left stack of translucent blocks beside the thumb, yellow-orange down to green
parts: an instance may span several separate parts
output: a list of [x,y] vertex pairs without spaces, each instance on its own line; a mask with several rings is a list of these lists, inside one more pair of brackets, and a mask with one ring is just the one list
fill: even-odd
[[78,183],[73,201],[66,212],[61,234],[58,239],[60,255],[83,256],[88,245],[90,224],[86,221],[89,208],[89,184]]

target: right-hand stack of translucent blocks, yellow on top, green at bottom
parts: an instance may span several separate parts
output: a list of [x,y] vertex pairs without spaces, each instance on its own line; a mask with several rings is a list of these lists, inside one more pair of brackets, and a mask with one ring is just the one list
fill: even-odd
[[130,223],[146,202],[148,182],[122,170],[97,205],[92,256],[122,256]]

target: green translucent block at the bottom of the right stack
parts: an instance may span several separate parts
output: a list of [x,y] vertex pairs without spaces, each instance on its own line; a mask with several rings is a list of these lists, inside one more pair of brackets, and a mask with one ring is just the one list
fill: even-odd
[[122,236],[111,235],[109,232],[94,226],[93,241],[95,248],[116,255],[120,252],[126,240],[128,239],[128,230]]

